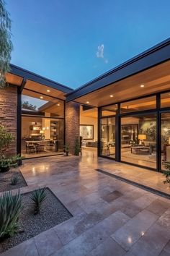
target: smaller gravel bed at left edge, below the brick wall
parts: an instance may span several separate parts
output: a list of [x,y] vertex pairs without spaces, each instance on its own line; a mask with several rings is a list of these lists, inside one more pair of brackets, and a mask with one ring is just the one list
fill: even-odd
[[[19,179],[16,185],[11,184],[11,179],[14,176],[17,176]],[[6,172],[0,172],[0,192],[12,189],[19,189],[20,187],[26,186],[27,183],[25,182],[21,171],[19,171],[19,168],[12,168]]]

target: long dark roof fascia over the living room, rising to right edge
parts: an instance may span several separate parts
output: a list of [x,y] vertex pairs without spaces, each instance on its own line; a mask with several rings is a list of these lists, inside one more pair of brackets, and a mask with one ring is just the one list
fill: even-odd
[[114,69],[109,70],[97,77],[94,80],[82,85],[81,87],[73,90],[73,92],[66,95],[66,101],[73,101],[88,93],[92,93],[94,90],[99,90],[107,85],[111,85],[114,82],[130,77],[133,74],[137,74],[143,70],[154,67],[161,64],[164,61],[170,59],[170,38],[158,43],[156,46],[149,48],[142,54],[138,54],[132,59],[125,61]]

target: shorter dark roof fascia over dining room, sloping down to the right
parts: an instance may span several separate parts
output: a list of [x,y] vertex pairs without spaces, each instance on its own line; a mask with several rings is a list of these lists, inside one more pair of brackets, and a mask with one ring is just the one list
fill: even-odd
[[73,91],[72,88],[67,87],[66,85],[61,85],[58,82],[54,82],[53,80],[49,80],[48,78],[42,77],[39,74],[35,74],[26,69],[22,69],[20,67],[15,66],[14,64],[10,64],[10,72],[19,77],[23,77],[24,80],[31,80],[33,82],[38,82],[42,85],[46,85],[50,88],[60,90],[63,93],[71,93]]

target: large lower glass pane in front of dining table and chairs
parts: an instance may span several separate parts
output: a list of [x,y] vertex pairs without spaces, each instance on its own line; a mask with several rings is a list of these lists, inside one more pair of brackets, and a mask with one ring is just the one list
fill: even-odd
[[35,157],[63,152],[64,120],[22,116],[22,155]]

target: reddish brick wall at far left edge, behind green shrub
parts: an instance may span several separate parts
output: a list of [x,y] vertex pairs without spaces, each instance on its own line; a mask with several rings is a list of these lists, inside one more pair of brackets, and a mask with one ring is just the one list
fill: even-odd
[[14,142],[9,147],[8,155],[17,153],[17,86],[0,89],[0,125],[12,132]]

